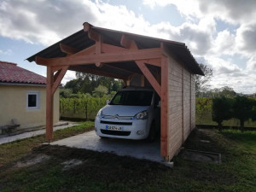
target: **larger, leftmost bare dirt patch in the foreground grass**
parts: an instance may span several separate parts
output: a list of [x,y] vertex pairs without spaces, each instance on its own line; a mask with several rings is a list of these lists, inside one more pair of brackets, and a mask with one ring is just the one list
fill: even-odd
[[34,166],[38,163],[47,161],[50,159],[50,156],[47,154],[32,154],[29,158],[26,157],[23,160],[19,160],[16,163],[16,167],[26,167],[26,166]]

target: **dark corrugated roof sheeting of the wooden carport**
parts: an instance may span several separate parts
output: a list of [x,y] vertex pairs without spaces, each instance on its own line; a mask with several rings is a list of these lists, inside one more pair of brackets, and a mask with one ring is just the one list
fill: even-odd
[[[189,49],[183,43],[170,41],[166,39],[160,39],[160,38],[151,38],[151,37],[137,35],[129,32],[120,32],[120,31],[110,30],[110,29],[96,27],[96,26],[91,26],[91,28],[94,29],[96,32],[102,34],[104,37],[104,42],[107,44],[113,44],[113,45],[119,46],[120,39],[123,34],[134,39],[137,43],[138,49],[158,48],[160,47],[160,43],[164,43],[167,49],[169,49],[172,52],[172,54],[175,55],[179,60],[183,61],[184,66],[188,67],[192,73],[204,75],[204,73],[201,71],[201,67],[199,67],[197,61],[195,61],[195,58],[193,57],[193,55],[191,55]],[[48,48],[38,52],[35,55],[30,56],[26,60],[35,61],[36,56],[40,56],[44,58],[64,57],[66,56],[66,54],[61,51],[60,44],[66,44],[70,47],[73,47],[79,50],[86,49],[91,45],[95,44],[95,41],[91,40],[86,33],[87,32],[84,32],[84,30],[75,32],[73,33],[73,35],[62,39],[60,42],[57,42],[49,46]],[[139,69],[137,68],[134,62],[131,61],[129,63],[130,65],[125,65],[125,66],[126,67],[132,66],[131,68],[133,68],[137,73],[140,73]],[[86,67],[94,68],[95,65],[86,65]],[[131,68],[129,69],[129,71],[131,71]],[[72,67],[70,69],[72,70]],[[112,70],[113,72],[113,69],[108,67],[105,67],[104,69],[102,68],[101,70],[103,71]],[[118,71],[119,71],[118,73],[127,73],[125,72],[125,70],[123,72],[120,72],[120,70]]]

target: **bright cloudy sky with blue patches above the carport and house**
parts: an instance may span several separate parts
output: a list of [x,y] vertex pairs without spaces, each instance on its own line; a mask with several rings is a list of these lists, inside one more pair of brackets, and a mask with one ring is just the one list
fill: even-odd
[[[185,43],[213,69],[212,88],[256,92],[255,0],[0,0],[0,60],[45,76],[25,59],[85,21]],[[68,72],[62,83],[73,79]]]

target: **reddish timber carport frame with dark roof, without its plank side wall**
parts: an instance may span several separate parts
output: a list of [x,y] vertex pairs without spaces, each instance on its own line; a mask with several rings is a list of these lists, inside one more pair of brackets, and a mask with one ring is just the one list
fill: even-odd
[[[161,99],[161,156],[168,159],[168,55],[201,74],[184,44],[108,30],[84,23],[84,30],[53,44],[28,61],[47,67],[46,137],[53,138],[53,96],[67,70],[123,79],[129,85],[135,74],[152,85]],[[190,65],[188,65],[188,63]],[[192,64],[192,65],[191,65]],[[203,73],[202,73],[203,74]],[[146,79],[144,79],[144,77]]]

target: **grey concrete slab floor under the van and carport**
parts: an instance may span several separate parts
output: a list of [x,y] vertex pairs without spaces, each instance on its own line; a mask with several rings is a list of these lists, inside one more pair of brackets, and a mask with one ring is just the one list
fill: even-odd
[[96,136],[95,131],[89,131],[51,144],[64,145],[72,148],[86,148],[99,152],[110,152],[120,156],[131,156],[137,159],[156,162],[164,161],[164,158],[160,156],[160,139],[156,140],[154,143],[113,138],[102,139]]

